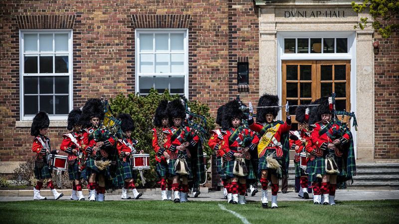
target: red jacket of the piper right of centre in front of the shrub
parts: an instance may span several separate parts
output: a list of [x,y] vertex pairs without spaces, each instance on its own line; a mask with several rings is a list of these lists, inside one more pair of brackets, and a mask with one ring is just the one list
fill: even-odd
[[[176,132],[180,132],[180,134],[177,134]],[[177,159],[178,152],[176,147],[185,142],[184,136],[188,132],[194,134],[194,132],[191,131],[190,127],[188,126],[183,127],[183,129],[181,127],[172,126],[165,131],[167,141],[165,142],[164,147],[167,149],[167,152],[170,155],[171,159]],[[190,140],[190,145],[196,145],[199,140],[200,138],[195,135],[193,139]],[[187,149],[186,151],[188,153],[188,156],[191,157],[189,150]]]

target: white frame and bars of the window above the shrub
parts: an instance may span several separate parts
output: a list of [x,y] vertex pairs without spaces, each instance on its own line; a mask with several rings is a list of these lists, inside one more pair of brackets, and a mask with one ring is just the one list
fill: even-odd
[[[182,33],[185,34],[184,37],[184,72],[183,73],[141,73],[140,71],[140,34],[173,34],[173,33]],[[155,38],[153,40],[155,42]],[[153,46],[155,46],[155,43],[153,42]],[[170,45],[170,41],[169,41]],[[170,47],[169,47],[170,49]],[[155,53],[155,48],[153,49],[153,53]],[[170,55],[171,52],[168,52]],[[155,63],[155,59],[154,59]],[[155,64],[154,64],[155,67]],[[184,96],[186,98],[189,97],[189,30],[188,29],[182,29],[182,28],[176,28],[176,29],[163,29],[163,28],[155,28],[155,29],[147,29],[147,28],[140,28],[140,29],[135,29],[135,92],[136,94],[146,96],[147,94],[140,94],[140,83],[139,83],[139,78],[140,77],[155,77],[155,76],[168,76],[170,77],[179,77],[183,76],[184,77]],[[170,90],[170,86],[169,86]]]

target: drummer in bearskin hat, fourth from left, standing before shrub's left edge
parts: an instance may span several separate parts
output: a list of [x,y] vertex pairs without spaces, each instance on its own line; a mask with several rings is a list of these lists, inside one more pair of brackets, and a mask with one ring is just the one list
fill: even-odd
[[[119,158],[123,165],[123,178],[125,179],[125,186],[122,188],[121,199],[131,199],[128,195],[128,191],[132,190],[133,198],[139,199],[143,193],[138,192],[134,184],[136,178],[136,171],[132,169],[130,164],[131,155],[136,154],[137,151],[134,146],[137,144],[137,140],[132,139],[132,131],[134,130],[133,119],[128,113],[121,113],[118,116],[121,122],[122,136],[118,139],[116,147],[118,149]],[[141,150],[140,153],[144,151]]]

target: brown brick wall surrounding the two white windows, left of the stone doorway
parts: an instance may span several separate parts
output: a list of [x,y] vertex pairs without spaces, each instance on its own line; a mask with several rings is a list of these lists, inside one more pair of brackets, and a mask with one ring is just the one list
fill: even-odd
[[[239,58],[247,60],[250,69],[250,84],[241,99],[258,98],[259,32],[252,0],[3,0],[0,5],[0,162],[33,155],[29,127],[15,127],[19,29],[72,28],[74,108],[91,97],[135,91],[137,27],[189,29],[189,98],[208,104],[213,114],[238,94]],[[50,128],[53,147],[65,131]]]

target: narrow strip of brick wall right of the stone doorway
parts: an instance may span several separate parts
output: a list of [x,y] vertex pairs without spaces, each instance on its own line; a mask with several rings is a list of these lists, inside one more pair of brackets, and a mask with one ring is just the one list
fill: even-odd
[[[398,23],[397,15],[391,23]],[[399,34],[375,32],[375,159],[399,159]]]

